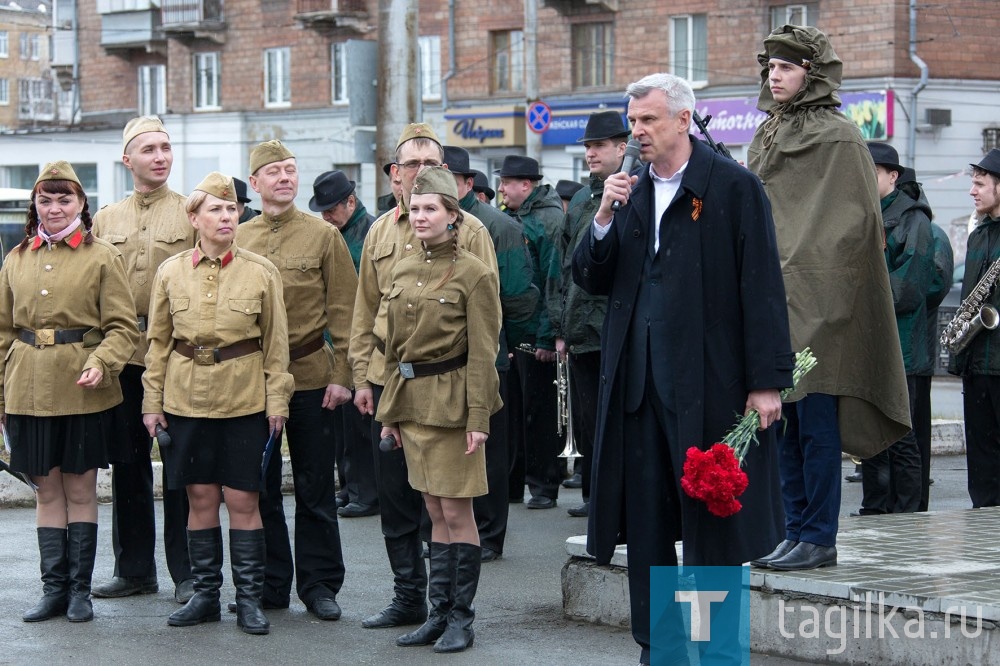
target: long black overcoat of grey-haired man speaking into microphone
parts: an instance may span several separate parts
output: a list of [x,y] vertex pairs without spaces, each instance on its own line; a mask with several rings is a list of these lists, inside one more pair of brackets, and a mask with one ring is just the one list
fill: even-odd
[[[680,188],[661,221],[657,256],[663,261],[663,286],[655,299],[665,310],[671,341],[663,347],[672,355],[668,367],[677,397],[679,441],[670,442],[670,459],[682,525],[648,529],[674,530],[683,538],[687,565],[732,565],[765,555],[783,538],[775,443],[781,424],[760,433],[760,444],[747,456],[743,469],[750,483],[740,497],[743,508],[729,518],[713,516],[681,490],[685,452],[719,441],[743,414],[748,391],[789,387],[794,359],[764,188],[744,167],[694,138],[691,142]],[[643,168],[612,231],[597,245],[592,236],[585,239],[573,257],[574,280],[591,293],[608,295],[587,542],[602,564],[625,542],[624,484],[630,480],[624,478],[629,442],[622,435],[622,375],[653,201],[649,169]]]

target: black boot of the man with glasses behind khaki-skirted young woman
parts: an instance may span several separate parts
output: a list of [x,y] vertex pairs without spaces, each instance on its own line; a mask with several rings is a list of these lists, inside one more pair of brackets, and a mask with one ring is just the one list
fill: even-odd
[[365,629],[403,627],[427,619],[427,570],[421,558],[423,543],[417,533],[386,537],[385,552],[393,573],[393,598],[386,608],[361,621]]

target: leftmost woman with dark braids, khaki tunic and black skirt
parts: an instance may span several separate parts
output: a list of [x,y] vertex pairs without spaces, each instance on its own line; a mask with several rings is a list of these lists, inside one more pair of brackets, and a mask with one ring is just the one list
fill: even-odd
[[121,253],[91,232],[68,162],[45,165],[26,238],[0,269],[0,423],[36,491],[44,596],[25,622],[94,618],[97,468],[116,441],[118,374],[139,337]]

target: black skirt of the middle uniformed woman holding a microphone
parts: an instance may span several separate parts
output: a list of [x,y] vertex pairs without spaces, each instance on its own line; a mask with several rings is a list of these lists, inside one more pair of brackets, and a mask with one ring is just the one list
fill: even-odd
[[[264,445],[268,438],[264,412],[228,419],[165,414],[171,444],[160,447],[169,488],[212,483],[259,492]],[[274,455],[281,441],[274,444]]]

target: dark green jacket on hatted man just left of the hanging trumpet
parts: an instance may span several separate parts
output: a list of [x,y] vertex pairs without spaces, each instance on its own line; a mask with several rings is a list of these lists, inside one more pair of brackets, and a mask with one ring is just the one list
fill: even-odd
[[508,214],[519,220],[528,239],[528,249],[535,268],[532,282],[539,288],[534,315],[534,343],[540,349],[552,351],[555,346],[552,312],[558,312],[562,298],[559,291],[559,239],[562,237],[562,199],[551,185],[538,185],[516,211]]

